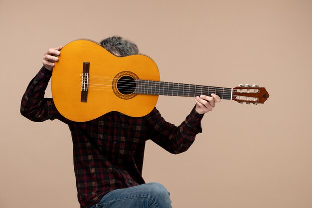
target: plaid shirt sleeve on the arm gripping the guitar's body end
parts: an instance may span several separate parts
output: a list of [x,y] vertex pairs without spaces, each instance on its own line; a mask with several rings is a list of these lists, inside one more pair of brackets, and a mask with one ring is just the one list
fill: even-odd
[[56,109],[52,98],[44,98],[44,91],[52,76],[52,71],[42,67],[30,81],[22,97],[20,113],[31,121],[59,119],[68,122]]

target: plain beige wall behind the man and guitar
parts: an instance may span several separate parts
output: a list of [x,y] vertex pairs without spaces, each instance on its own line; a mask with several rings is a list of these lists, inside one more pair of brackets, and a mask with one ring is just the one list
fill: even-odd
[[[0,0],[0,28],[0,208],[79,207],[68,128],[23,118],[20,99],[48,48],[114,34],[162,81],[270,93],[258,106],[222,101],[186,153],[147,144],[144,177],[174,208],[312,207],[312,1]],[[157,108],[178,125],[193,105],[160,97]]]

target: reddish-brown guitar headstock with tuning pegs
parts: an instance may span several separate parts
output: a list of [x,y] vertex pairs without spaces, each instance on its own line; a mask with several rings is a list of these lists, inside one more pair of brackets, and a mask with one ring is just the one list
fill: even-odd
[[254,104],[264,103],[269,98],[269,93],[259,85],[240,84],[233,88],[232,100],[239,103]]

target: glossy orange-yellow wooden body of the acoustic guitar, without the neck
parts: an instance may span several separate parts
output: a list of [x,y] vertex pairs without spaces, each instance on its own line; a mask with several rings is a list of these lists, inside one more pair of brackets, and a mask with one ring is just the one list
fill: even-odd
[[[81,101],[84,63],[89,63],[87,99]],[[158,95],[123,94],[121,76],[159,81],[156,63],[145,55],[117,57],[90,40],[66,44],[52,73],[52,96],[57,110],[72,121],[93,120],[111,111],[132,117],[150,113]],[[114,84],[115,83],[115,84]]]

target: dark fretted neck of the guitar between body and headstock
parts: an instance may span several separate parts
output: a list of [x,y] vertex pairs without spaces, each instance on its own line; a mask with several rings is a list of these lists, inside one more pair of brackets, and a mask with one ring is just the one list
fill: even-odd
[[221,99],[231,100],[233,89],[226,87],[213,87],[195,84],[181,84],[174,82],[152,81],[136,79],[134,93],[145,95],[168,95],[181,97],[196,97],[214,93]]

